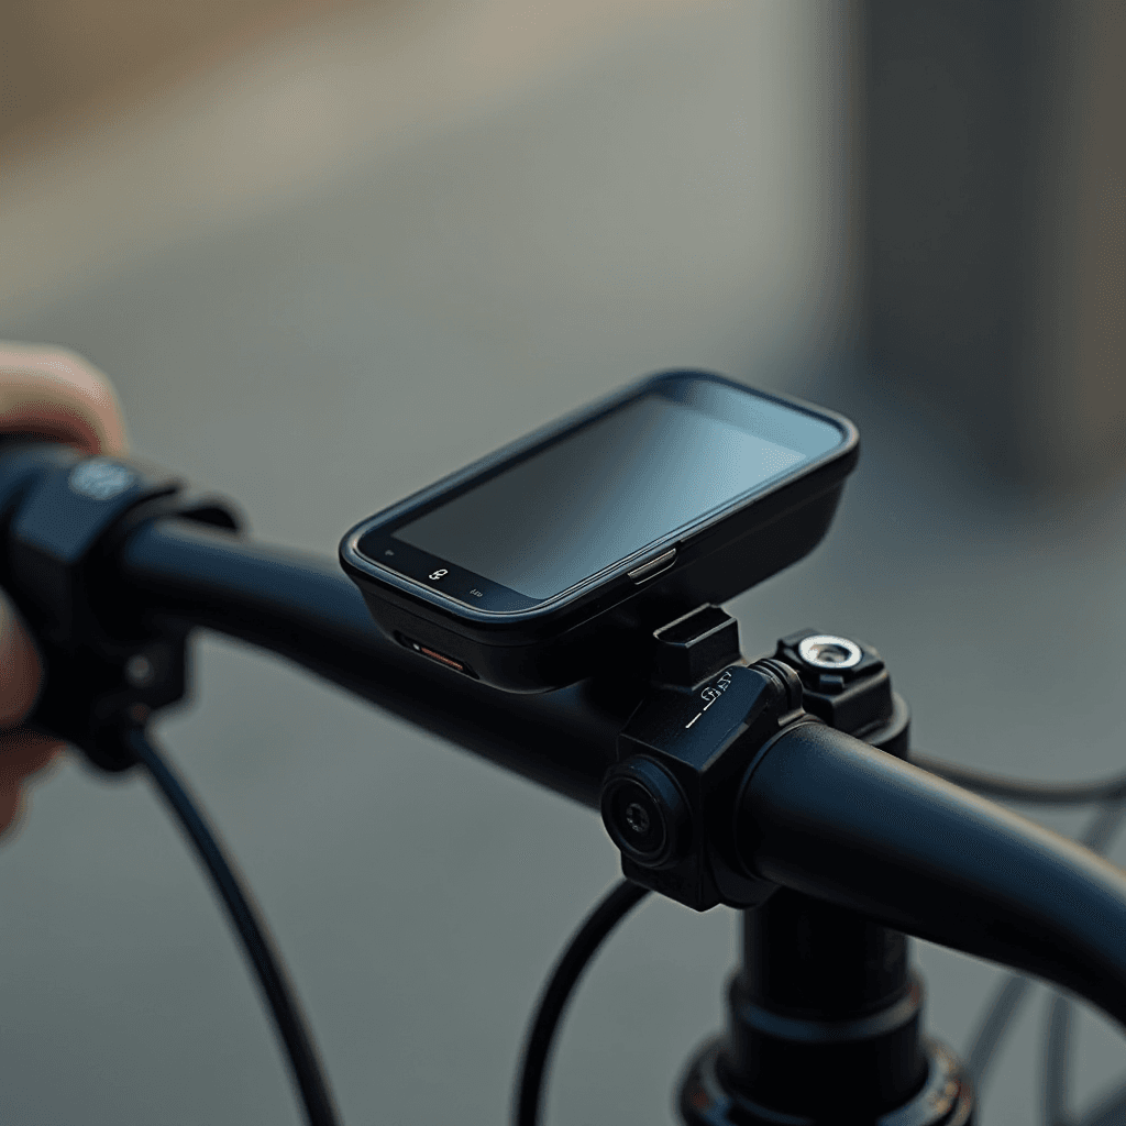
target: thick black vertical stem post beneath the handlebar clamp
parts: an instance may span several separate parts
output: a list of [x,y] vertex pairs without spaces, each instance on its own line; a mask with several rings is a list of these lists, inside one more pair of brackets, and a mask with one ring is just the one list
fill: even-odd
[[789,888],[744,912],[724,1085],[765,1120],[828,1123],[847,1108],[874,1121],[910,1103],[928,1065],[922,982],[906,949],[903,935]]

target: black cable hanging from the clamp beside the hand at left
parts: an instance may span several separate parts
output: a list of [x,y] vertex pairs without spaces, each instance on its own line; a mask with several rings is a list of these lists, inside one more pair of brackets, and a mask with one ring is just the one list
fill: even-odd
[[242,890],[232,863],[208,826],[197,803],[171,765],[150,742],[143,731],[134,730],[125,742],[152,777],[161,795],[196,849],[223,900],[234,929],[242,940],[247,957],[258,975],[258,983],[269,1003],[274,1024],[285,1045],[293,1078],[301,1092],[309,1126],[337,1126],[336,1107],[316,1049],[282,959],[274,949],[266,923],[258,917],[250,897]]

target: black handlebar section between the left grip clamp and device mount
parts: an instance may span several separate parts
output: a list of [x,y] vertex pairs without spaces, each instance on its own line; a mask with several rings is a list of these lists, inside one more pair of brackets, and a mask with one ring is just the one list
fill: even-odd
[[420,660],[376,629],[336,560],[169,517],[134,531],[117,558],[146,613],[285,656],[431,734],[598,807],[636,697],[589,682],[538,696],[500,694]]

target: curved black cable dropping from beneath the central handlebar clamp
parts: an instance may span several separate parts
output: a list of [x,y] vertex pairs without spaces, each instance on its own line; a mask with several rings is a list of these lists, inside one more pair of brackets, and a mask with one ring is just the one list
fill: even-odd
[[616,884],[587,915],[555,964],[524,1042],[512,1108],[516,1126],[537,1126],[547,1061],[568,1001],[602,940],[646,895],[647,887],[627,879]]

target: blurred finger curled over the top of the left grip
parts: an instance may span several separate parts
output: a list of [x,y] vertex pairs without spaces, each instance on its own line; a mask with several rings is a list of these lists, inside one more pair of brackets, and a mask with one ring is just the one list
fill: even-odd
[[0,341],[0,430],[88,454],[124,454],[127,445],[109,381],[73,352],[42,345]]

